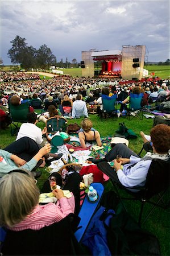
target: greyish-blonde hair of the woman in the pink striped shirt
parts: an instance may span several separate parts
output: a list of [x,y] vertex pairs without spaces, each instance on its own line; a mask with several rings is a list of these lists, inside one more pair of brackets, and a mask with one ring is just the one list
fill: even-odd
[[12,172],[0,180],[1,225],[14,226],[24,220],[39,203],[39,189],[27,172]]

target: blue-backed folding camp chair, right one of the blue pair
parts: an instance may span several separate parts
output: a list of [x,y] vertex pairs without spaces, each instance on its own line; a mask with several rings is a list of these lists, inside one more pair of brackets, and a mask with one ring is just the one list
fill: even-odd
[[143,119],[142,99],[143,93],[130,93],[130,108],[127,109],[127,117],[129,118],[129,120],[134,117]]

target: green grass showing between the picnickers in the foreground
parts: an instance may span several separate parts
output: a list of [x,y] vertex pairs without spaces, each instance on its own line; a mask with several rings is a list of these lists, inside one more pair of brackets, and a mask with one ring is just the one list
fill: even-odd
[[[136,139],[130,139],[129,147],[134,150],[136,153],[140,151],[142,148],[143,142],[142,138],[140,137],[140,130],[143,130],[144,133],[149,134],[150,129],[152,127],[152,119],[146,119],[145,117],[143,120],[139,119],[132,119],[131,121],[128,121],[127,118],[119,118],[117,121],[113,121],[113,119],[103,119],[103,122],[97,117],[97,115],[90,115],[90,119],[93,121],[93,127],[96,128],[101,136],[113,136],[115,134],[115,131],[119,127],[119,122],[125,122],[125,125],[135,131],[138,138]],[[80,125],[82,118],[80,119],[68,119],[69,123],[78,123]],[[44,124],[42,122],[38,123],[38,126],[40,128],[44,127]],[[11,137],[10,135],[10,127],[8,127],[6,130],[1,131],[1,148],[4,148],[11,142],[15,141],[15,136]],[[38,186],[39,188],[42,187],[42,184],[48,177],[48,172],[45,172],[42,168],[40,170],[43,171],[42,176],[39,178]],[[110,183],[110,181],[107,181],[105,183],[105,190],[109,191],[112,190],[113,187]],[[135,218],[138,216],[139,212],[139,204],[137,202],[127,202],[126,207],[128,209],[128,212],[131,213],[131,215]],[[148,209],[148,208],[146,208]],[[161,210],[156,209],[154,213],[148,218],[146,223],[143,225],[143,228],[150,231],[151,233],[155,234],[155,236],[159,239],[160,247],[161,247],[161,255],[170,255],[170,249],[169,249],[169,210]]]

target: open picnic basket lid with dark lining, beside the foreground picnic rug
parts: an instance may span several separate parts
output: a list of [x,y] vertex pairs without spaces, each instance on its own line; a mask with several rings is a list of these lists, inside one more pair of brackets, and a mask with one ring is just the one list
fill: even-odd
[[[57,133],[57,131],[64,131],[65,133],[68,133],[67,119],[60,117],[60,115],[55,115],[55,117],[47,119],[45,126],[47,127],[46,136],[48,141],[51,141],[49,133],[52,135]],[[64,142],[67,143],[69,140],[70,138],[68,137],[67,139],[64,139]]]

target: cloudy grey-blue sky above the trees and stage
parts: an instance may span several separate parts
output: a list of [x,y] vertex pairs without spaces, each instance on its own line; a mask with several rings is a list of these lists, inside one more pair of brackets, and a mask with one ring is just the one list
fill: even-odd
[[146,46],[148,61],[169,59],[169,0],[1,0],[0,7],[0,57],[6,65],[16,35],[36,49],[47,44],[57,61],[80,61],[81,51],[122,50],[127,44]]

